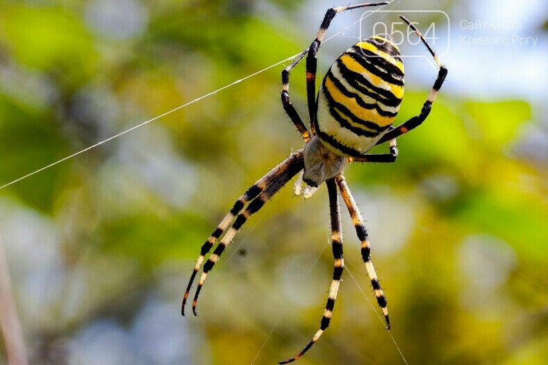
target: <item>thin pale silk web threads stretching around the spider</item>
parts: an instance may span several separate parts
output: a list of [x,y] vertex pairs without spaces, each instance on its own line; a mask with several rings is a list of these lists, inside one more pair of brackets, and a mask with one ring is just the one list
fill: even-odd
[[[391,7],[391,9],[393,9],[393,8],[395,8],[395,6],[397,6],[397,4],[400,3],[400,2],[401,2],[401,0],[392,1],[392,2],[390,2],[388,5],[392,5],[392,3],[393,3],[393,5],[392,5],[392,7]],[[365,17],[370,16],[372,13],[373,13],[373,12],[371,12],[371,13],[368,14],[368,15],[366,15]],[[386,15],[386,14],[385,14],[385,15]],[[385,17],[385,15],[382,15],[382,16],[380,17],[380,19],[382,19],[383,17]],[[326,40],[324,40],[323,43],[329,42],[329,40],[333,39],[334,37],[350,37],[350,36],[348,36],[348,35],[344,35],[344,32],[347,31],[347,30],[348,30],[349,28],[351,28],[352,26],[355,26],[356,24],[358,24],[359,22],[361,22],[361,21],[363,20],[363,18],[365,18],[365,17],[362,17],[361,19],[358,19],[358,21],[356,21],[356,22],[350,24],[350,25],[347,26],[346,28],[343,28],[341,31],[338,31],[338,32],[335,33],[334,35],[331,35],[330,37],[326,38]],[[354,38],[354,37],[352,37],[352,38]],[[185,107],[187,107],[187,106],[189,106],[189,105],[192,105],[192,104],[194,104],[194,103],[197,103],[198,101],[207,99],[208,97],[213,96],[213,95],[217,94],[218,92],[222,92],[222,91],[228,89],[229,87],[232,87],[232,86],[234,86],[234,85],[236,85],[236,84],[238,84],[238,83],[242,83],[242,81],[244,81],[244,80],[247,80],[247,79],[249,79],[249,78],[253,78],[254,76],[257,76],[258,74],[262,74],[263,72],[265,72],[265,71],[267,71],[267,70],[269,70],[269,69],[272,69],[272,68],[274,68],[274,67],[276,67],[276,66],[282,65],[284,62],[288,62],[288,61],[290,61],[290,60],[293,60],[294,58],[296,58],[296,57],[299,56],[299,55],[301,55],[301,52],[299,52],[299,53],[297,53],[297,54],[294,54],[293,56],[290,56],[290,57],[288,57],[288,58],[285,58],[284,60],[281,60],[281,61],[279,61],[279,62],[276,62],[276,63],[274,63],[274,64],[272,64],[272,65],[269,65],[268,67],[265,67],[264,69],[260,69],[259,71],[256,71],[256,72],[254,72],[254,73],[252,73],[252,74],[249,74],[248,76],[245,76],[245,77],[243,77],[243,78],[240,78],[240,79],[238,79],[238,80],[235,80],[235,81],[233,81],[232,83],[229,83],[229,84],[227,84],[227,85],[224,85],[223,87],[219,87],[219,89],[217,89],[217,90],[214,90],[214,91],[212,91],[212,92],[208,92],[207,94],[204,94],[204,95],[202,95],[202,96],[199,96],[199,97],[197,97],[196,99],[194,99],[194,100],[192,100],[192,101],[188,101],[188,103],[184,103],[184,104],[182,104],[182,105],[179,105],[179,106],[177,106],[176,108],[173,108],[172,110],[169,110],[169,111],[167,111],[167,112],[164,112],[163,114],[160,114],[160,115],[158,115],[158,116],[156,116],[156,117],[153,117],[153,118],[151,118],[151,119],[148,119],[147,121],[143,121],[142,123],[137,124],[137,125],[135,125],[135,126],[133,126],[133,127],[131,127],[131,128],[128,128],[128,129],[126,129],[126,130],[122,130],[122,132],[117,133],[116,135],[113,135],[113,136],[108,137],[108,138],[106,138],[106,139],[103,139],[103,140],[101,140],[100,142],[97,142],[96,144],[92,144],[91,146],[88,146],[88,147],[86,147],[86,148],[83,148],[81,151],[77,151],[77,152],[75,152],[75,153],[72,153],[72,155],[68,155],[68,156],[65,157],[65,158],[62,158],[62,159],[60,159],[60,160],[57,160],[56,162],[52,162],[51,164],[48,164],[48,165],[46,165],[46,166],[44,166],[44,167],[42,167],[42,168],[40,168],[40,169],[37,169],[37,170],[35,170],[35,171],[32,171],[31,173],[27,173],[26,175],[21,176],[20,178],[17,178],[17,179],[15,179],[15,180],[12,180],[12,181],[10,181],[10,182],[7,182],[6,184],[0,186],[0,190],[1,190],[1,189],[4,189],[4,188],[6,188],[6,187],[9,187],[10,185],[14,185],[14,184],[16,184],[17,182],[22,181],[22,180],[24,180],[24,179],[26,179],[26,178],[30,178],[31,176],[34,176],[34,175],[36,175],[37,173],[40,173],[40,172],[42,172],[42,171],[44,171],[44,170],[50,169],[51,167],[54,167],[54,166],[56,166],[57,164],[60,164],[60,163],[62,163],[62,162],[65,162],[65,161],[67,161],[67,160],[70,160],[70,159],[72,159],[72,158],[75,158],[76,156],[81,155],[82,153],[88,152],[88,151],[92,150],[93,148],[96,148],[96,147],[98,147],[98,146],[101,146],[101,144],[106,144],[107,142],[110,142],[110,141],[112,141],[113,139],[117,139],[118,137],[122,137],[123,135],[126,135],[127,133],[130,133],[130,132],[132,132],[133,130],[136,130],[136,129],[138,129],[138,128],[141,128],[141,127],[143,127],[143,126],[146,126],[147,124],[149,124],[149,123],[151,123],[151,122],[153,122],[153,121],[156,121],[157,119],[160,119],[160,118],[162,118],[162,117],[165,117],[165,116],[167,116],[168,114],[172,114],[173,112],[176,112],[177,110],[181,110],[181,109],[183,109],[183,108],[185,108]],[[265,212],[265,213],[266,213],[266,212]],[[263,215],[264,215],[264,214],[263,214]],[[262,219],[262,217],[261,217],[261,219]],[[259,219],[259,221],[260,221],[260,219]],[[257,224],[258,224],[258,222],[256,222],[256,224],[254,225],[254,227],[253,227],[251,230],[253,230]],[[248,235],[244,238],[244,240],[242,240],[242,242],[240,243],[240,245],[239,245],[238,247],[240,247],[240,246],[244,243],[244,241],[247,239],[247,237],[249,237],[249,234],[251,234],[251,232],[248,233]],[[317,261],[319,260],[319,257],[322,255],[322,253],[325,251],[325,248],[326,248],[328,245],[329,245],[329,240],[326,242],[326,244],[324,244],[322,250],[319,252],[319,254],[317,255],[316,259],[314,260],[314,262],[313,262],[312,265],[310,266],[310,269],[308,269],[308,272],[306,273],[305,277],[301,280],[301,285],[304,283],[304,280],[306,280],[306,278],[308,278],[308,275],[310,275],[310,272],[312,271],[313,267],[315,266],[315,264],[316,264]],[[225,264],[222,266],[221,270],[224,268],[224,266],[226,265],[226,263],[228,263],[229,260],[231,260],[231,258],[232,258],[232,255],[229,257],[228,260],[226,260],[226,262],[225,262]],[[372,309],[373,309],[373,312],[375,312],[375,314],[379,317],[379,320],[381,321],[381,324],[384,326],[383,319],[381,319],[381,316],[379,315],[379,313],[376,312],[376,309],[375,309],[374,306],[372,305],[372,303],[371,303],[371,301],[370,301],[370,298],[367,297],[367,295],[365,294],[365,291],[363,291],[363,289],[360,287],[358,281],[354,278],[354,275],[352,275],[352,273],[349,271],[347,265],[346,265],[346,269],[347,269],[347,271],[349,272],[349,274],[350,274],[352,280],[354,280],[354,282],[355,282],[356,285],[358,286],[358,289],[361,291],[361,293],[363,294],[363,296],[364,296],[365,299],[367,300],[367,303],[370,304],[370,306],[371,306]],[[301,285],[299,285],[299,287],[300,287]],[[296,293],[297,293],[297,292],[295,292],[294,295],[295,295]],[[276,330],[276,327],[278,326],[278,324],[280,323],[280,321],[281,321],[282,318],[283,318],[283,314],[279,317],[279,319],[278,319],[278,320],[276,321],[276,323],[274,324],[272,330],[269,332],[267,338],[265,339],[265,342],[264,342],[263,345],[260,347],[260,349],[258,350],[257,355],[254,357],[253,361],[251,362],[251,365],[253,365],[253,364],[256,362],[256,359],[257,359],[258,356],[260,355],[260,353],[261,353],[261,351],[263,350],[263,348],[265,348],[267,341],[270,339],[270,337],[271,337],[272,334],[274,333],[274,330]],[[392,336],[392,334],[390,333],[390,331],[387,331],[387,332],[388,332],[388,334],[390,335],[390,338],[392,339],[392,342],[394,343],[395,347],[397,348],[397,350],[398,350],[398,352],[399,352],[399,355],[401,355],[401,359],[403,359],[403,361],[404,361],[405,364],[408,364],[408,362],[406,361],[406,358],[404,357],[404,354],[401,352],[399,346],[397,345],[396,340],[394,339],[394,337]]]

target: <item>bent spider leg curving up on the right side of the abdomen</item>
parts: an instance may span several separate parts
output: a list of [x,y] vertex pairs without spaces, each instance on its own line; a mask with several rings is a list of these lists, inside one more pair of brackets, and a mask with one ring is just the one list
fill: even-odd
[[420,111],[420,114],[416,115],[415,117],[409,119],[408,121],[404,122],[400,126],[397,126],[396,128],[389,130],[381,139],[379,139],[379,142],[376,142],[376,144],[381,144],[386,141],[389,141],[390,139],[394,139],[396,137],[399,137],[400,135],[403,135],[404,133],[408,133],[410,130],[417,128],[422,124],[423,121],[426,120],[426,117],[429,116],[430,111],[432,109],[432,103],[435,101],[435,96],[438,95],[438,92],[440,91],[443,82],[445,81],[445,77],[447,76],[447,68],[442,64],[440,58],[438,55],[435,54],[432,47],[426,40],[424,39],[424,36],[420,33],[420,31],[415,27],[413,24],[409,22],[406,17],[400,16],[401,19],[406,22],[415,33],[420,37],[420,40],[424,43],[426,48],[431,53],[432,57],[435,60],[435,63],[440,67],[440,71],[438,71],[438,77],[434,81],[434,85],[432,87],[432,90],[430,91],[430,94],[428,96],[428,99],[424,102],[422,105],[422,110]]

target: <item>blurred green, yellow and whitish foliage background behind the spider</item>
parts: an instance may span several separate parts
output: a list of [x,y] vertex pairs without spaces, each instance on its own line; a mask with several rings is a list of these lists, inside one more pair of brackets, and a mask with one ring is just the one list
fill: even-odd
[[[347,3],[0,1],[0,186],[299,53],[326,8]],[[413,15],[423,31],[435,22],[449,68],[431,117],[399,139],[397,163],[345,172],[391,333],[409,364],[546,364],[547,4],[383,10],[450,19]],[[338,15],[328,37],[362,14]],[[366,19],[362,33],[377,21],[390,29],[397,14]],[[354,24],[325,42],[319,77],[359,35]],[[402,51],[428,56],[422,44]],[[398,121],[420,111],[436,75],[427,58],[404,62]],[[274,364],[310,340],[333,267],[324,187],[307,201],[292,185],[274,196],[212,271],[201,316],[180,314],[201,244],[302,146],[279,102],[282,69],[0,189],[0,363],[21,343],[10,299],[30,364]],[[302,65],[291,92],[306,117]],[[299,364],[404,364],[367,303],[342,213],[356,282],[343,274],[331,326]]]

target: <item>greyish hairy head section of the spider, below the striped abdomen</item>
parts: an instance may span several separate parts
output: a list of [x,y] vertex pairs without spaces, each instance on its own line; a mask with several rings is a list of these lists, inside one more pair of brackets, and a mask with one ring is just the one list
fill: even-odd
[[303,181],[309,187],[319,187],[325,180],[341,173],[346,164],[347,158],[335,155],[314,136],[304,147]]

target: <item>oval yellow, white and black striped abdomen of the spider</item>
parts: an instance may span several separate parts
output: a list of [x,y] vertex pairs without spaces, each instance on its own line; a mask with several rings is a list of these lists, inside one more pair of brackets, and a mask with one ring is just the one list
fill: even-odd
[[316,133],[337,155],[366,153],[392,125],[403,96],[399,49],[390,35],[374,35],[331,65],[318,92]]

